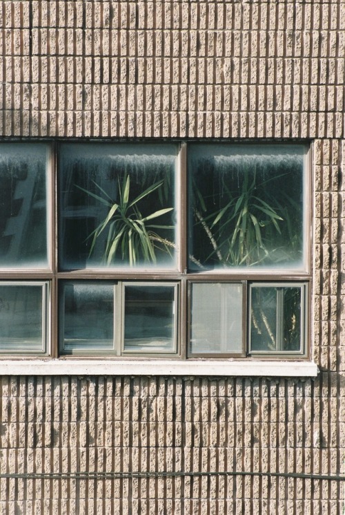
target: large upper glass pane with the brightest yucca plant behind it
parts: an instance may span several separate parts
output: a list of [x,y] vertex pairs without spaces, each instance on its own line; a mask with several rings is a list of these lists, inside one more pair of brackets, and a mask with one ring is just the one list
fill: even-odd
[[61,146],[60,266],[175,265],[171,144]]

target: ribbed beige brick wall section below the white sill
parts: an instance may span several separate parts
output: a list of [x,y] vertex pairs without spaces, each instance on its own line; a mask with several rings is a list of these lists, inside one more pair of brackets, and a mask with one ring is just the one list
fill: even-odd
[[[324,391],[324,395],[322,395]],[[337,385],[319,380],[3,377],[0,513],[341,513]],[[332,395],[333,393],[333,395]],[[331,415],[331,416],[330,416]],[[66,478],[73,472],[164,478]],[[208,476],[181,472],[208,471]],[[9,510],[9,511],[8,511]]]

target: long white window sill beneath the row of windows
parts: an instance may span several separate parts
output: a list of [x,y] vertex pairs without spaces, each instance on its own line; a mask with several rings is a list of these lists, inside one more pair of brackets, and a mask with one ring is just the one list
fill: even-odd
[[309,361],[259,359],[3,359],[0,375],[208,375],[316,377]]

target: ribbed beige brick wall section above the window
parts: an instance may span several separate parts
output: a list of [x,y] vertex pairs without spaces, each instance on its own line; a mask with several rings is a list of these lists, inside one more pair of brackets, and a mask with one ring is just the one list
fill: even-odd
[[342,138],[344,2],[1,1],[3,135]]

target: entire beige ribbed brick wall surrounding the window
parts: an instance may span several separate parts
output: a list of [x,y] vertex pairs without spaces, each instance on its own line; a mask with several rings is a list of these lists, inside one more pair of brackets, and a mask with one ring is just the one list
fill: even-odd
[[[344,1],[0,1],[0,135],[313,140],[317,380],[1,378],[1,473],[344,471]],[[1,514],[342,513],[336,481],[0,479]]]

